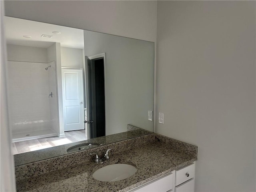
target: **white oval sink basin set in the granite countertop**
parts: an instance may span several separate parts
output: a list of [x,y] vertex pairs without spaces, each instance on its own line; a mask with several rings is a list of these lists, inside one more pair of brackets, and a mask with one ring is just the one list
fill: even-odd
[[132,176],[136,171],[132,165],[113,164],[96,170],[92,176],[99,181],[119,181]]

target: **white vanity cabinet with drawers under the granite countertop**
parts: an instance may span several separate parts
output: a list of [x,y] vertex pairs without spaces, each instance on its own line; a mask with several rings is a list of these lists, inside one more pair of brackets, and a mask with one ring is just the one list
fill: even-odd
[[130,192],[194,192],[195,162],[148,182]]

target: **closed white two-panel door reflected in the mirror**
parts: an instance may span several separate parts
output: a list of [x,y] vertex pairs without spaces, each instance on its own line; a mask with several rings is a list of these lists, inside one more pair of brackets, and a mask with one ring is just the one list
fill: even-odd
[[82,69],[62,69],[64,131],[84,129]]

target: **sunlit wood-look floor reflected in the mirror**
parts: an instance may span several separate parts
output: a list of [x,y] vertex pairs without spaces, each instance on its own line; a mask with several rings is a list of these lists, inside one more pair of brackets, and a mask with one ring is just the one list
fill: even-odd
[[66,137],[45,137],[26,141],[12,142],[12,153],[19,154],[39,149],[50,148],[68,143],[87,140],[85,130],[66,131]]

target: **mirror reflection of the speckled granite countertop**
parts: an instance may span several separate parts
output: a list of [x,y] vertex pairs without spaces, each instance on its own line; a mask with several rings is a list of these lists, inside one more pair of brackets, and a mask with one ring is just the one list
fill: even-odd
[[112,135],[88,139],[80,142],[74,142],[70,144],[55,146],[51,148],[46,148],[46,149],[41,149],[41,150],[36,150],[36,151],[31,151],[26,153],[20,153],[20,154],[14,155],[14,164],[15,166],[19,166],[23,164],[37,162],[40,160],[62,156],[62,155],[68,154],[67,152],[68,148],[78,144],[99,143],[99,144],[105,145],[105,144],[110,144],[113,142],[118,142],[121,140],[126,140],[129,138],[134,138],[134,137],[147,135],[147,134],[152,134],[152,132],[138,128],[136,130],[134,129],[127,132],[118,133],[118,134],[112,134]]

